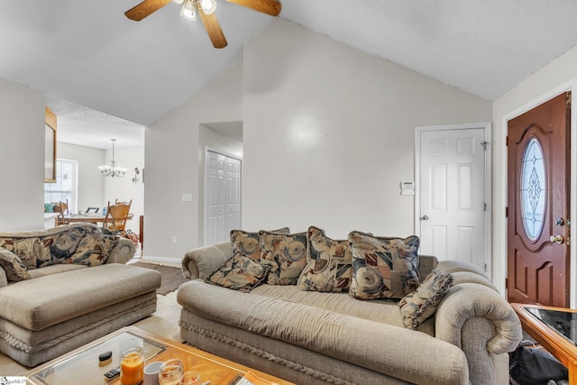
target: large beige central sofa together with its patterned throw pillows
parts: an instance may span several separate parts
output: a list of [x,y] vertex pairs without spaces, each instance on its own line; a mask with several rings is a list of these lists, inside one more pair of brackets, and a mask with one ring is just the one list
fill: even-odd
[[[517,347],[521,326],[512,307],[472,264],[418,256],[417,278],[404,280],[403,289],[409,294],[399,302],[387,298],[391,295],[386,289],[381,288],[378,296],[375,290],[363,288],[367,284],[372,287],[374,281],[362,282],[371,275],[362,275],[363,267],[354,255],[347,261],[347,244],[358,244],[357,253],[370,248],[351,242],[351,234],[348,243],[334,241],[314,226],[305,233],[306,240],[293,236],[284,242],[286,238],[283,241],[280,235],[271,235],[269,246],[290,261],[281,261],[276,255],[275,261],[267,263],[270,250],[257,247],[267,243],[260,233],[255,237],[244,232],[240,238],[232,237],[232,242],[185,254],[182,268],[190,281],[180,286],[177,296],[182,306],[179,325],[183,340],[298,384],[508,383],[507,353]],[[365,235],[371,237],[360,236]],[[397,242],[391,241],[395,238],[377,240]],[[402,268],[395,265],[376,270],[389,271],[390,278],[408,266],[403,257],[408,255],[410,242],[404,241],[408,239],[401,239],[402,247],[390,248]],[[305,243],[305,262],[295,258],[303,253],[298,242]],[[261,268],[245,259],[251,253],[261,254]],[[379,253],[371,249],[367,259]],[[380,253],[380,257],[386,254]],[[346,262],[353,266],[349,268]],[[282,273],[271,280],[261,274],[262,270],[272,274],[283,264],[300,266],[296,283],[279,284]],[[330,270],[333,276],[329,280],[310,274]],[[239,276],[247,271],[252,279],[239,283],[243,281]],[[395,283],[386,276],[383,273],[390,289]],[[223,280],[225,277],[228,279]],[[431,277],[444,280],[444,295],[427,298],[423,288]],[[352,287],[357,289],[353,294]],[[360,299],[364,295],[374,299]],[[408,316],[412,311],[408,302],[417,308],[412,316]],[[436,307],[425,310],[419,303]],[[421,317],[417,323],[413,322],[415,314]]]

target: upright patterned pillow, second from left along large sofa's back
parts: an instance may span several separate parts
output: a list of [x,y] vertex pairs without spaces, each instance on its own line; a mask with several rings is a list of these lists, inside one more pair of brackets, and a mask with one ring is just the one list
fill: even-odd
[[307,233],[260,231],[261,263],[270,266],[269,285],[295,285],[307,264]]

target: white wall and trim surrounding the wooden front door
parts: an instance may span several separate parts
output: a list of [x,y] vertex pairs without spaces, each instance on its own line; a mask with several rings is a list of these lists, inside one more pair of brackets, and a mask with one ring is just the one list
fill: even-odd
[[[505,293],[505,278],[507,277],[507,223],[505,207],[507,206],[507,147],[505,136],[507,127],[503,119],[511,114],[520,114],[522,110],[541,103],[544,97],[553,96],[552,93],[561,93],[562,89],[573,85],[575,96],[575,78],[577,78],[577,47],[569,50],[563,56],[554,60],[545,68],[537,71],[533,76],[522,81],[517,87],[511,89],[504,96],[499,97],[493,103],[493,282],[501,293]],[[574,111],[574,104],[573,104]],[[573,113],[573,120],[575,114]],[[572,128],[575,122],[572,122]],[[574,129],[572,129],[574,133]],[[575,216],[575,191],[577,180],[575,172],[577,166],[574,161],[575,135],[572,133],[572,218]],[[572,229],[574,232],[574,229]],[[575,235],[573,234],[573,239]],[[577,263],[575,252],[572,248],[572,277],[577,277]],[[572,279],[572,307],[577,305],[576,280]]]

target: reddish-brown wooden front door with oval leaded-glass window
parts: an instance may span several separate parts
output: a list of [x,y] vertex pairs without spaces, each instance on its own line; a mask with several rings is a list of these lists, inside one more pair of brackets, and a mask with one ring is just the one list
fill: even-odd
[[569,306],[571,94],[508,122],[509,302]]

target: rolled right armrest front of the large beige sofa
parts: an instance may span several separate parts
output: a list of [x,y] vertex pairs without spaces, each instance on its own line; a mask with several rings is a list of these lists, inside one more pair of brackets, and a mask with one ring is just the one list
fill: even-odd
[[465,282],[454,285],[437,307],[435,337],[463,349],[472,383],[495,383],[494,371],[487,370],[492,355],[514,351],[522,332],[515,310],[497,290]]

